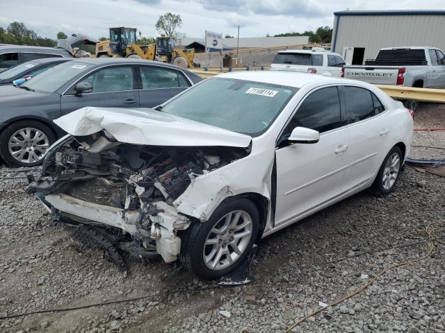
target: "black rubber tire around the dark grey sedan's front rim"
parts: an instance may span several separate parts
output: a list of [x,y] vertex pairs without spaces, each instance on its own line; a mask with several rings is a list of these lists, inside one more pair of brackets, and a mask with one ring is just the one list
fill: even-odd
[[[0,135],[0,156],[3,161],[5,161],[5,163],[11,167],[34,167],[35,165],[43,162],[42,158],[40,160],[34,160],[34,162],[21,162],[16,160],[13,155],[11,155],[9,151],[9,141],[18,130],[24,128],[40,130],[47,137],[48,147],[51,146],[51,144],[54,144],[56,141],[56,137],[54,137],[54,133],[51,131],[51,129],[39,121],[24,120],[11,124],[5,130],[3,130]],[[43,155],[40,151],[36,152],[36,154],[38,154],[39,157]]]

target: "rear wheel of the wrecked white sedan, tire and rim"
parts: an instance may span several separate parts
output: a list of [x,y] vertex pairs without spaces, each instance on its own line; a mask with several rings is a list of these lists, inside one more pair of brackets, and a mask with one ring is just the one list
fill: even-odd
[[373,183],[373,189],[386,196],[394,190],[402,170],[403,155],[401,148],[394,146],[380,167]]

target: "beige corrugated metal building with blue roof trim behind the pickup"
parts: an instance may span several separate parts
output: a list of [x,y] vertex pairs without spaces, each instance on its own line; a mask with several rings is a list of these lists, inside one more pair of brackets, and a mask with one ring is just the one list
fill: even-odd
[[445,50],[445,10],[334,12],[332,50],[348,65],[362,65],[382,47],[435,46]]

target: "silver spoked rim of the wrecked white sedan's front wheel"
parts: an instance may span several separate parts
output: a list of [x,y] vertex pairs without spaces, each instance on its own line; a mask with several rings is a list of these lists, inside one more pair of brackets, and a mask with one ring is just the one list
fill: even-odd
[[243,210],[225,214],[211,228],[204,242],[202,256],[212,271],[234,264],[248,247],[252,237],[252,218]]

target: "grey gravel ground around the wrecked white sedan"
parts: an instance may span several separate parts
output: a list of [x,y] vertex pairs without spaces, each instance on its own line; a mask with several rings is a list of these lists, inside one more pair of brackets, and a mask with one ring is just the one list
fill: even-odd
[[[445,106],[421,105],[415,122],[445,127]],[[445,132],[416,132],[413,145],[413,157],[444,157]],[[0,332],[281,332],[382,268],[421,257],[424,228],[445,221],[445,178],[407,167],[387,198],[362,192],[263,239],[253,282],[217,287],[156,260],[122,275],[102,251],[79,248],[72,229],[51,225],[23,178],[3,178],[19,171],[0,168],[0,317],[151,297],[0,320]],[[445,332],[444,262],[437,244],[292,332]]]

